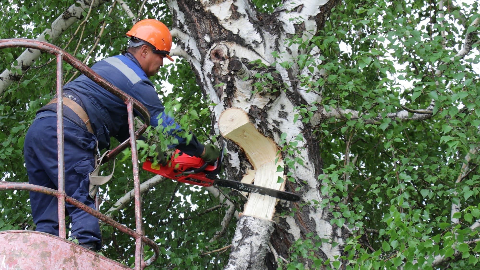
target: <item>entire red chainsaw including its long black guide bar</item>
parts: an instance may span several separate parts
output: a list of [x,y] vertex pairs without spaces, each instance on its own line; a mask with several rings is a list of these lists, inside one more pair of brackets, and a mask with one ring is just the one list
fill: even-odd
[[177,149],[165,166],[155,163],[153,159],[148,158],[142,168],[145,171],[160,174],[181,183],[200,186],[223,186],[237,191],[258,193],[288,201],[300,201],[300,196],[291,192],[217,178],[218,173],[222,169],[224,148],[222,147],[220,152],[222,154],[220,154],[214,164],[209,164],[201,158],[189,156]]

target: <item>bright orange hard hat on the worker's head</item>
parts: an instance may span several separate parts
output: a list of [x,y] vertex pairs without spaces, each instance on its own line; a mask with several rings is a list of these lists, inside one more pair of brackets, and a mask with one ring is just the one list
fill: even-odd
[[148,42],[147,45],[155,47],[155,53],[165,54],[170,61],[173,61],[169,56],[172,48],[172,35],[162,22],[154,19],[141,20],[132,26],[132,29],[127,32],[127,36]]

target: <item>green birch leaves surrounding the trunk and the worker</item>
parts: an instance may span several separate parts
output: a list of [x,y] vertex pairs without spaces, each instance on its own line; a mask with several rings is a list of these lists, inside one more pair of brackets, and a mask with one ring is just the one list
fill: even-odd
[[[8,1],[0,8],[0,14],[8,18],[0,22],[0,37],[36,38],[72,2]],[[266,18],[288,0],[253,2]],[[125,3],[135,15],[142,7],[142,1]],[[142,10],[140,18],[157,18],[171,25],[166,3],[148,1]],[[298,47],[303,53],[286,59],[281,56],[288,52],[275,51],[274,63],[248,63],[253,71],[262,71],[245,78],[254,80],[252,95],[287,93],[293,86],[314,97],[301,100],[292,113],[293,122],[311,132],[308,141],[318,145],[323,167],[317,183],[323,197],[303,201],[298,207],[280,207],[277,215],[296,217],[309,207],[328,209],[330,225],[345,232],[343,243],[332,243],[328,235],[301,232],[285,249],[270,251],[267,258],[273,262],[269,265],[288,270],[478,268],[479,14],[475,1],[348,0],[335,5],[318,32],[306,29],[310,35],[286,37],[288,47]],[[125,29],[132,19],[119,5],[112,8],[107,2],[87,15],[85,11],[84,18],[54,44],[89,65],[125,49]],[[85,27],[80,25],[84,19]],[[0,70],[10,68],[21,51],[1,50]],[[42,54],[32,67],[19,70],[18,81],[1,94],[2,180],[28,180],[23,165],[24,134],[35,111],[54,95],[55,62],[50,59]],[[264,72],[276,64],[304,72],[281,79],[273,70]],[[66,82],[74,70],[68,65],[64,68]],[[195,76],[187,61],[179,59],[163,67],[154,80],[179,123],[200,140],[216,142],[220,138],[211,128],[208,106],[212,103],[202,94]],[[173,86],[172,91],[166,91],[163,81]],[[223,86],[213,84],[214,88]],[[304,165],[298,147],[306,141],[304,136],[300,133],[290,139],[282,134],[279,145],[288,166],[278,170],[284,170],[287,184],[299,193],[308,185],[294,178],[296,167]],[[162,146],[167,144],[164,141]],[[153,153],[148,144],[139,145],[143,159]],[[117,162],[114,180],[102,190],[102,212],[133,187],[128,150],[118,159],[122,162]],[[141,174],[142,181],[151,177],[147,172]],[[236,192],[222,192],[231,202],[205,189],[164,180],[143,195],[144,230],[161,250],[152,269],[222,269],[227,265],[229,250],[224,247],[231,243],[236,220],[224,222],[224,217],[232,216],[228,207],[241,211],[243,198]],[[227,207],[228,202],[231,206]],[[0,230],[34,228],[28,193],[5,192],[0,210]],[[132,204],[111,215],[134,227]],[[222,226],[224,232],[216,236]],[[102,234],[103,253],[131,265],[133,241],[108,226],[102,226]],[[340,246],[340,255],[319,256],[324,243]],[[151,253],[145,249],[147,257]]]

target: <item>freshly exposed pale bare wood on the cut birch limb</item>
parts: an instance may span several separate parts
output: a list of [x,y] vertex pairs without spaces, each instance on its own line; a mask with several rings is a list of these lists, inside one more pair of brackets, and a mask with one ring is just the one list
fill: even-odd
[[[278,166],[283,167],[283,160],[277,156],[278,147],[250,123],[244,110],[240,108],[224,110],[218,119],[218,128],[225,138],[234,141],[245,151],[255,170],[253,184],[283,189],[285,181],[277,183],[278,177],[283,178],[283,171],[276,172]],[[248,179],[249,176],[246,177]],[[242,215],[271,220],[276,201],[274,197],[252,193]]]

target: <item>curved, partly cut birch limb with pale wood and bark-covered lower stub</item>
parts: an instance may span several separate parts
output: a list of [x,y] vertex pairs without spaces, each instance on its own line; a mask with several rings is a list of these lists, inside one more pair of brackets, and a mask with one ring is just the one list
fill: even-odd
[[[238,144],[255,170],[254,184],[283,190],[285,181],[283,160],[278,157],[278,147],[250,123],[248,115],[240,108],[224,110],[218,120],[218,129],[227,139]],[[284,179],[285,180],[285,179]],[[273,228],[273,215],[277,199],[251,193],[244,207],[232,240],[230,259],[225,269],[265,269],[265,254]]]

